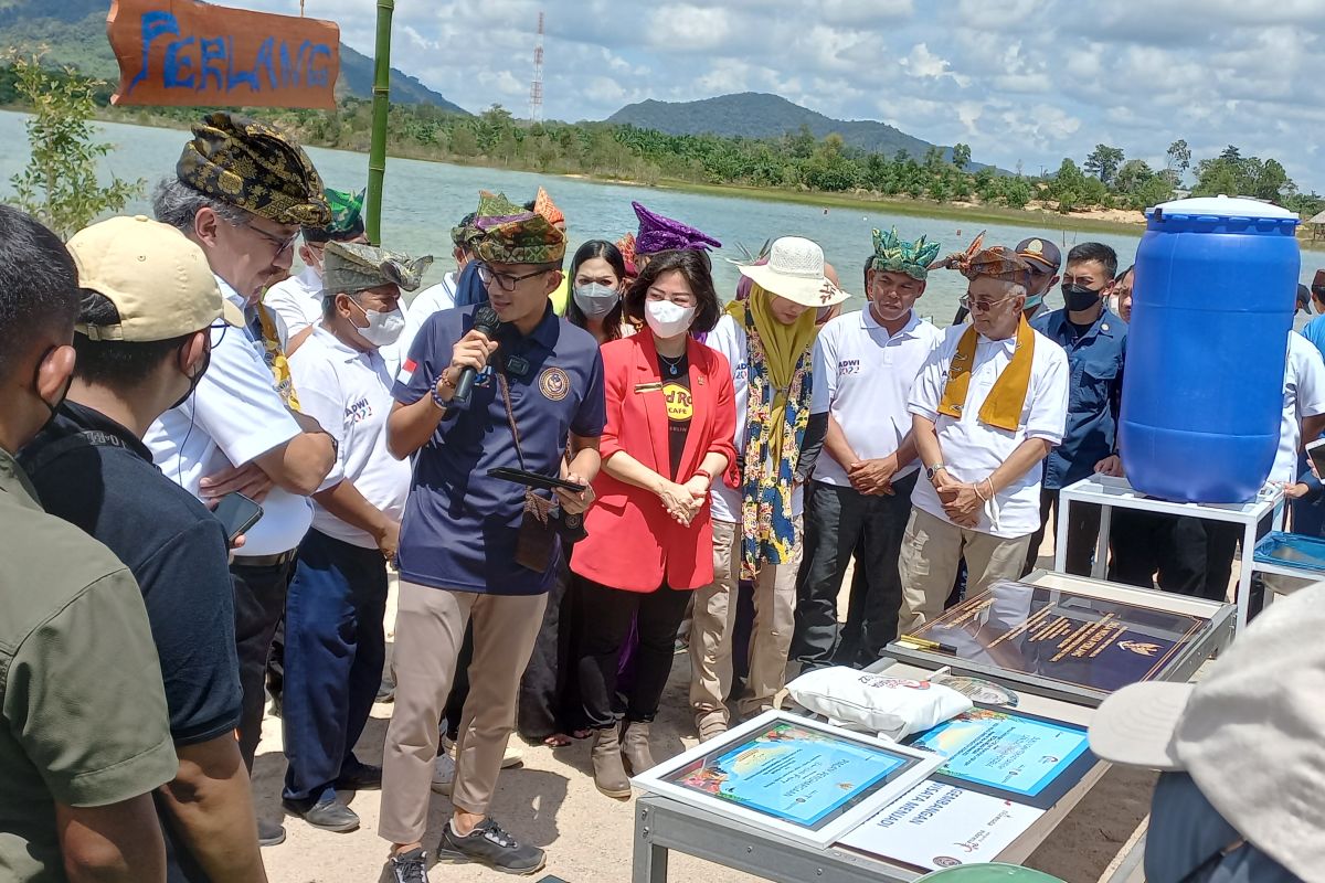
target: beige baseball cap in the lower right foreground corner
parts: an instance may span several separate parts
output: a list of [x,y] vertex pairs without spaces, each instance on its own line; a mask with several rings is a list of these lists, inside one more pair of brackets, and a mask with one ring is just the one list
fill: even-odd
[[1096,710],[1090,749],[1186,770],[1238,833],[1325,880],[1325,584],[1271,605],[1200,682],[1136,683]]

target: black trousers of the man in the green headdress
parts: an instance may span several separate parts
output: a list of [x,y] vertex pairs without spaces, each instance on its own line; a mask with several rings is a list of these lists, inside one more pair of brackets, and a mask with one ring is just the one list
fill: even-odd
[[[912,473],[894,482],[892,496],[810,482],[804,560],[796,580],[792,659],[807,666],[836,662],[860,667],[877,661],[888,642],[897,637],[897,613],[902,604],[897,560],[918,474]],[[840,627],[837,593],[852,553],[856,555],[856,584],[847,609],[847,625]],[[860,588],[864,592],[857,598]],[[856,646],[844,646],[844,635],[849,635]]]

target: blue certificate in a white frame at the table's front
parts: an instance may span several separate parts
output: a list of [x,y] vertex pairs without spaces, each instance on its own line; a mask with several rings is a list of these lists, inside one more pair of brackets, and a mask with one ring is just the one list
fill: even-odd
[[942,757],[768,711],[631,780],[814,846],[840,839]]

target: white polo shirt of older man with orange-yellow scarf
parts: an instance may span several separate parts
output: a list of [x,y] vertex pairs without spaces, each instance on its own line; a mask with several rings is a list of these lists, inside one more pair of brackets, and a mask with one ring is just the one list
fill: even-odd
[[[1016,338],[988,340],[983,335],[975,343],[975,364],[966,391],[966,404],[961,420],[938,413],[947,385],[947,369],[957,355],[957,344],[969,326],[953,326],[943,335],[938,349],[925,363],[912,389],[910,413],[934,421],[938,447],[949,474],[959,482],[988,478],[1003,465],[1027,438],[1043,438],[1053,445],[1063,441],[1068,417],[1068,356],[1063,347],[1039,331],[1035,335],[1035,356],[1031,360],[1031,383],[1022,406],[1016,432],[988,426],[979,420],[980,406],[994,388],[994,381],[1012,361]],[[986,506],[975,526],[982,534],[1016,539],[1034,534],[1040,527],[1040,485],[1044,469],[1032,466],[995,498],[998,526],[990,520]],[[916,482],[912,504],[935,518],[950,522],[938,500],[934,486],[928,481]]]

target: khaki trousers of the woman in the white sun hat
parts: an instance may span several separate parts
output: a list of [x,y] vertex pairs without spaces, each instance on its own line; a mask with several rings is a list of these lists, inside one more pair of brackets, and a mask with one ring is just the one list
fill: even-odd
[[[796,519],[791,560],[765,564],[754,589],[754,630],[750,635],[750,695],[742,715],[772,704],[784,686],[787,653],[796,613],[796,572],[800,569],[802,526]],[[741,537],[737,524],[713,522],[713,582],[694,593],[690,629],[690,707],[697,715],[721,712],[731,692],[731,633],[737,621],[741,579]]]

